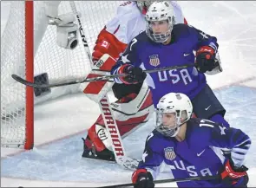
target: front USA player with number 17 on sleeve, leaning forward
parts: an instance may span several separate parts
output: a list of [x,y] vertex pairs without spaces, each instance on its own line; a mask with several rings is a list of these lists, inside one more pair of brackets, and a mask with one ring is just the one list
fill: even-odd
[[[153,188],[163,161],[174,178],[220,175],[213,180],[178,182],[178,187],[247,187],[248,169],[243,161],[251,139],[240,129],[191,118],[192,106],[181,93],[169,93],[159,100],[155,129],[132,175],[135,188]],[[223,147],[230,149],[229,158],[221,153]]]

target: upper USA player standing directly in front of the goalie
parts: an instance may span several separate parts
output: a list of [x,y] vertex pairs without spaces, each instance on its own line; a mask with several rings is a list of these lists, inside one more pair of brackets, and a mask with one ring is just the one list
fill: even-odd
[[[198,118],[217,121],[228,127],[226,110],[207,85],[205,73],[222,71],[214,36],[186,24],[174,25],[174,10],[166,1],[154,2],[147,15],[147,29],[129,43],[112,74],[129,74],[115,79],[128,85],[146,79],[153,95],[154,107],[161,96],[170,92],[187,94]],[[195,55],[194,55],[195,51]],[[158,71],[148,74],[144,69],[192,64],[194,67]],[[142,67],[142,68],[141,68]]]

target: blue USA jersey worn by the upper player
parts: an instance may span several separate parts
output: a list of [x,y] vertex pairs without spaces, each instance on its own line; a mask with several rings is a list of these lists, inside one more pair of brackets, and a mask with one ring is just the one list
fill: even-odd
[[[217,52],[218,43],[215,37],[182,23],[174,25],[172,42],[167,45],[151,41],[144,31],[129,43],[111,72],[116,74],[124,63],[147,70],[194,64],[194,51],[206,45]],[[121,83],[118,78],[115,82]],[[147,76],[147,82],[153,93],[154,106],[163,95],[171,92],[187,94],[193,99],[207,83],[205,75],[196,68],[151,73]]]

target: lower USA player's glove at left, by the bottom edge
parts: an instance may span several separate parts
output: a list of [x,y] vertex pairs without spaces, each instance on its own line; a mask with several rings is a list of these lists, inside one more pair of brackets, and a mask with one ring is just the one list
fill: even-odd
[[153,177],[146,169],[138,169],[132,175],[135,188],[154,188]]

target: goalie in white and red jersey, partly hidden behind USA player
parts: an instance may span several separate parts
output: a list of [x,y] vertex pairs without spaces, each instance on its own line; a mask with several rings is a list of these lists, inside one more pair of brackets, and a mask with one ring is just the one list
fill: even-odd
[[[100,32],[92,54],[93,61],[97,62],[104,54],[117,60],[127,48],[128,43],[146,29],[145,14],[149,4],[153,2],[128,1],[122,3],[117,9],[115,17]],[[174,7],[175,23],[187,23],[180,5],[175,1],[170,1],[170,4]],[[109,67],[110,71],[112,65],[105,67]],[[100,90],[95,82],[94,84],[91,88]],[[89,89],[87,87],[83,92],[86,94]],[[148,117],[154,111],[151,92],[148,85],[142,82],[132,85],[115,83],[112,89],[115,98],[118,99],[112,103],[115,110],[115,120],[121,136],[124,138],[138,128],[142,122],[148,121]],[[95,124],[88,130],[88,136],[84,140],[82,157],[115,160],[113,152],[110,151],[112,142],[110,138],[106,139],[105,132],[102,115],[100,115]]]

